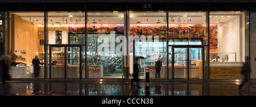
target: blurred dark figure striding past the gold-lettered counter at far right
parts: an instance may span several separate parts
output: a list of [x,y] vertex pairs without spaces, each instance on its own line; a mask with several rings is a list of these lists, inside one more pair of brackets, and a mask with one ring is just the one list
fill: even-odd
[[243,67],[242,67],[242,71],[241,71],[241,74],[243,75],[243,82],[238,87],[239,91],[243,91],[243,89],[242,89],[243,85],[245,84],[245,82],[248,82],[248,79],[249,79],[248,76],[251,71],[249,62],[250,62],[250,57],[246,57],[245,63],[243,63]]

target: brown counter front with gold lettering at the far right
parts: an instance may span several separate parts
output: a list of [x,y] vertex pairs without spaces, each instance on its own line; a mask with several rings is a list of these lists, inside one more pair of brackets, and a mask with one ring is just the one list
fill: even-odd
[[243,62],[210,62],[210,79],[241,79]]

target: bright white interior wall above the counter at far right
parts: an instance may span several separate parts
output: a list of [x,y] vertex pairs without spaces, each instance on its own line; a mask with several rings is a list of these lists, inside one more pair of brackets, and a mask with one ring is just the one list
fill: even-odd
[[[218,53],[236,53],[237,62],[243,61],[243,46],[245,46],[244,42],[242,42],[245,37],[242,33],[244,29],[240,30],[240,24],[243,22],[240,20],[240,16],[236,16],[233,19],[223,22],[224,24],[218,25]],[[230,55],[229,61],[234,61],[234,56]]]

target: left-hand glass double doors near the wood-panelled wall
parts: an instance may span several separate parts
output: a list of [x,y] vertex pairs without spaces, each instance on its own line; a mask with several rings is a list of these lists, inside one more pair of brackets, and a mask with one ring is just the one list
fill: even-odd
[[51,80],[80,79],[82,75],[80,66],[79,46],[49,46],[49,71]]

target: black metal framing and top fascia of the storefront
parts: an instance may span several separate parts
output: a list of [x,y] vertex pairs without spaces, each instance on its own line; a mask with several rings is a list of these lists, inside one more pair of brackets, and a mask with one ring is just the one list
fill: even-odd
[[[192,5],[191,5],[192,4]],[[117,8],[114,8],[113,6],[118,5]],[[195,5],[195,6],[193,6]],[[68,7],[65,7],[68,6]],[[146,6],[146,7],[145,7]],[[111,7],[111,8],[108,8]],[[120,8],[122,7],[122,8]],[[160,8],[159,8],[160,7]],[[177,8],[180,7],[180,8]],[[108,9],[106,9],[108,8]],[[58,45],[50,45],[46,44],[48,42],[48,11],[85,11],[85,18],[86,12],[87,11],[106,11],[106,10],[122,10],[122,11],[147,11],[147,10],[164,10],[167,11],[167,23],[169,22],[168,20],[168,12],[169,11],[206,11],[206,16],[207,16],[207,35],[208,35],[208,41],[207,45],[201,45],[206,47],[207,53],[206,53],[206,60],[207,62],[207,75],[203,75],[203,80],[209,79],[209,11],[255,11],[256,10],[256,3],[171,3],[171,2],[162,2],[162,3],[154,3],[154,2],[139,2],[139,3],[130,3],[130,2],[124,2],[124,3],[86,3],[86,2],[81,2],[81,3],[0,3],[0,11],[3,11],[4,13],[6,11],[44,11],[44,50],[48,51],[48,46],[58,46]],[[250,18],[250,16],[249,16]],[[6,19],[6,18],[5,18]],[[250,21],[250,20],[249,20]],[[4,21],[6,22],[6,20]],[[86,21],[85,21],[86,22]],[[86,22],[87,23],[87,22]],[[86,27],[85,23],[85,27]],[[127,27],[127,14],[126,14],[126,27]],[[7,24],[7,23],[5,23]],[[4,31],[9,31],[8,27],[4,27]],[[250,25],[249,25],[250,27]],[[6,29],[7,28],[7,29]],[[168,28],[168,24],[167,24]],[[127,30],[127,29],[126,29]],[[250,28],[249,28],[250,30]],[[82,46],[85,46],[85,49],[87,51],[87,30],[85,31],[86,38],[85,38],[85,44],[84,45],[79,45],[80,48]],[[5,32],[5,34],[8,34],[8,32]],[[168,34],[168,30],[167,30]],[[125,35],[127,37],[127,33]],[[250,32],[249,32],[250,36]],[[166,38],[167,40],[167,52],[168,52],[168,36]],[[9,41],[8,41],[9,42]],[[61,45],[65,46],[65,45]],[[68,45],[72,46],[72,45]],[[249,41],[249,46],[250,46],[250,41]],[[65,46],[67,47],[67,46]],[[81,48],[82,49],[82,48]],[[5,49],[6,50],[6,49]],[[9,49],[7,49],[9,52]],[[250,48],[249,48],[250,51]],[[80,52],[81,53],[81,52]],[[249,53],[250,54],[250,53]],[[167,55],[168,57],[168,55]],[[46,57],[47,59],[47,57]],[[47,60],[45,60],[47,61]],[[81,60],[80,60],[81,61]],[[85,61],[87,61],[87,55],[85,57]],[[126,60],[127,62],[127,60]],[[85,62],[87,65],[87,62]],[[168,61],[167,61],[168,63]],[[44,68],[45,70],[45,76],[44,79],[47,79],[47,66]],[[207,73],[206,72],[206,73]],[[127,74],[126,74],[127,75]],[[168,75],[168,70],[167,70],[167,75]],[[205,78],[204,78],[205,77]],[[86,76],[85,76],[86,78]],[[169,80],[168,76],[167,79]],[[80,78],[81,80],[81,78]],[[174,80],[174,78],[172,78]]]

